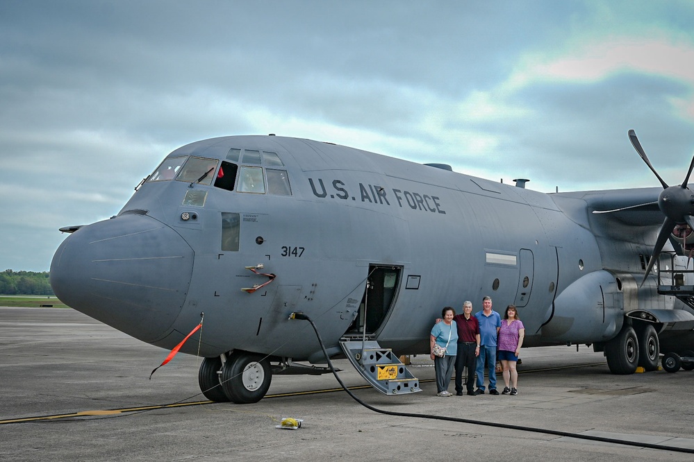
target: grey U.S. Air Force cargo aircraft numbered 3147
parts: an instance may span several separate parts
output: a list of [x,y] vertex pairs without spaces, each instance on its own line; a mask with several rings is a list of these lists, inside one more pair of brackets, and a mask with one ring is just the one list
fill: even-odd
[[391,382],[383,393],[418,391],[397,355],[429,354],[441,309],[483,296],[518,307],[524,347],[592,345],[616,374],[658,368],[662,350],[679,368],[694,328],[694,160],[670,187],[629,137],[662,188],[545,194],[309,139],[194,142],[117,216],[62,228],[51,285],[162,348],[202,316],[181,352],[205,358],[199,384],[218,402],[328,371],[297,313],[331,357]]

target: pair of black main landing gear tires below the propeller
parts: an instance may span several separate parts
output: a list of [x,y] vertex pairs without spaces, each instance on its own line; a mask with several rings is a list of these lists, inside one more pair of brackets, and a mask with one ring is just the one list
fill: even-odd
[[605,344],[604,352],[613,374],[633,374],[639,366],[647,371],[657,370],[658,334],[651,324],[641,323],[634,327],[625,324],[620,333]]

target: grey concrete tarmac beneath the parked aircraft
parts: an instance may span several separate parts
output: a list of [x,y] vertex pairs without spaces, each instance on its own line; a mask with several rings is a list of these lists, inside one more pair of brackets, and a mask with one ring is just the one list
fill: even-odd
[[[71,309],[0,307],[3,461],[547,460],[691,461],[694,454],[597,443],[500,422],[694,450],[694,371],[611,375],[602,353],[529,348],[518,396],[437,397],[432,361],[413,357],[422,392],[385,396],[346,360],[347,386],[388,416],[336,390],[332,375],[275,376],[256,404],[210,403],[200,359],[167,351]],[[503,381],[499,375],[499,390]],[[327,391],[322,391],[327,390]],[[450,391],[454,387],[449,388]],[[305,393],[313,392],[316,393]],[[172,404],[172,406],[163,406]],[[185,404],[185,405],[184,405]],[[297,430],[281,418],[303,419]]]

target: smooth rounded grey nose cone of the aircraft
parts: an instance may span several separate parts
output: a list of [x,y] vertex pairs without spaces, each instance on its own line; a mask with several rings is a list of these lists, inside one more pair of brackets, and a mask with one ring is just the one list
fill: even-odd
[[169,226],[122,214],[79,228],[51,263],[61,301],[142,341],[156,341],[179,315],[194,253]]

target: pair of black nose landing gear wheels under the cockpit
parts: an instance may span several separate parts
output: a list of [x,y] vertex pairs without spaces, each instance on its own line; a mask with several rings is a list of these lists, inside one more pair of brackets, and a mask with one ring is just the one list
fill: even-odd
[[235,350],[222,357],[205,358],[198,382],[202,393],[215,402],[250,404],[260,401],[272,380],[270,361],[261,354]]

